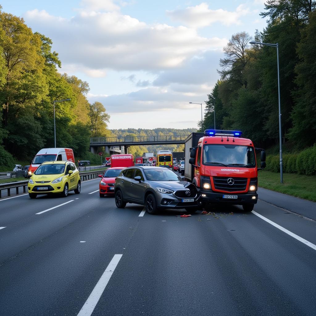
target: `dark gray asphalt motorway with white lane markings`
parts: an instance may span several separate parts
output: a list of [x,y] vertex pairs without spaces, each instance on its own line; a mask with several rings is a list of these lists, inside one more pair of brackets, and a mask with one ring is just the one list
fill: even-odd
[[270,201],[152,216],[98,188],[0,200],[2,316],[315,315],[315,221]]

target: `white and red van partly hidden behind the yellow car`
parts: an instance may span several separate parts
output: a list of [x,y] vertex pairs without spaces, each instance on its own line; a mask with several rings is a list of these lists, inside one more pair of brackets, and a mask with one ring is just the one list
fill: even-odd
[[34,171],[45,161],[72,161],[75,163],[74,152],[71,148],[43,148],[34,157],[27,171],[31,177]]

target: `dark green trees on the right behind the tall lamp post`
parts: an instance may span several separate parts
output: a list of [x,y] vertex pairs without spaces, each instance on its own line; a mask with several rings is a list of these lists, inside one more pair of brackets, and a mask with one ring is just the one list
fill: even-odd
[[[204,127],[238,129],[257,146],[279,141],[276,47],[279,45],[283,142],[296,152],[313,146],[316,135],[316,1],[268,0],[267,27],[252,38],[232,35],[220,60],[220,80],[208,94]],[[199,122],[201,127],[201,122]]]

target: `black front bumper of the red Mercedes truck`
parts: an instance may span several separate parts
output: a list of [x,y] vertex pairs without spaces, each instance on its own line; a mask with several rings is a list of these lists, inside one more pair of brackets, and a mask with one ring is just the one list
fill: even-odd
[[[254,193],[219,193],[210,191],[200,191],[203,204],[208,203],[227,203],[234,205],[257,204],[258,194]],[[237,196],[237,198],[229,198],[225,196]]]

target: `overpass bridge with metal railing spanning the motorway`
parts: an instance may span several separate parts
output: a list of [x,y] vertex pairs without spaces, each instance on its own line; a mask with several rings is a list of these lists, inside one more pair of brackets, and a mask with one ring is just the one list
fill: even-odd
[[122,137],[93,137],[90,138],[90,151],[95,153],[98,147],[112,154],[128,153],[130,146],[174,145],[184,144],[189,135],[160,135],[160,136],[122,136]]

